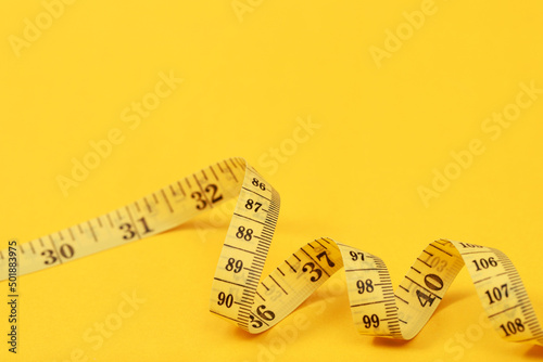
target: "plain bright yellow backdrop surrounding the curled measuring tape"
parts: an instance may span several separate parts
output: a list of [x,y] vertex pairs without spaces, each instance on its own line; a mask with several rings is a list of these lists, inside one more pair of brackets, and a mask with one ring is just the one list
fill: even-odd
[[[435,0],[414,28],[403,13],[426,9],[420,1],[239,2],[242,21],[230,0],[80,0],[55,8],[51,24],[40,1],[0,4],[1,248],[10,237],[39,237],[242,156],[281,195],[265,272],[304,243],[330,236],[380,256],[397,285],[428,242],[449,237],[507,254],[543,315],[543,94],[495,140],[481,128],[493,113],[514,109],[520,83],[543,88],[543,7]],[[36,17],[41,34],[14,50],[25,20]],[[405,31],[401,44],[387,42],[397,30]],[[389,47],[389,56],[376,62],[371,47]],[[182,83],[131,129],[123,111],[171,72]],[[286,140],[301,119],[319,128],[269,166],[270,148],[292,145]],[[58,177],[71,177],[72,159],[81,160],[89,142],[111,129],[123,142],[64,197]],[[418,188],[431,188],[433,169],[444,172],[451,153],[472,139],[484,153],[425,205]],[[77,361],[71,355],[79,350],[88,361],[543,355],[480,326],[482,307],[465,271],[409,342],[355,333],[341,273],[279,328],[247,335],[207,311],[228,220],[215,224],[202,236],[192,221],[21,277],[20,353],[8,353],[2,337],[1,360]],[[0,289],[8,294],[5,282]],[[94,349],[84,334],[132,290],[146,301]],[[285,339],[280,327],[292,326],[296,313],[308,327]],[[2,336],[7,315],[2,301]],[[462,347],[455,336],[466,334],[471,339]]]

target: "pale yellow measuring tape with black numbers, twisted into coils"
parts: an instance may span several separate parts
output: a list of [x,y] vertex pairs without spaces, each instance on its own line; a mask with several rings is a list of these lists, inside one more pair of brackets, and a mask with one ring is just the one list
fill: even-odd
[[[500,250],[439,240],[429,244],[394,293],[377,256],[323,237],[301,247],[264,281],[261,274],[279,215],[279,194],[242,158],[202,169],[125,207],[18,246],[18,274],[59,266],[175,228],[238,197],[212,285],[210,310],[250,333],[291,313],[344,267],[354,324],[361,334],[411,339],[467,270],[496,332],[543,346],[543,331],[520,276]],[[0,251],[0,281],[9,250]]]

